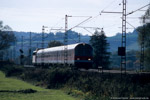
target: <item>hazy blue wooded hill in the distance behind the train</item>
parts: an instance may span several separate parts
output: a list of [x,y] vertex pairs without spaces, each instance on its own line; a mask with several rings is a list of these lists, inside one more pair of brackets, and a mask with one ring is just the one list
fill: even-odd
[[[29,37],[30,32],[14,32],[15,36],[17,37],[17,44],[16,44],[16,51],[19,51],[21,48],[21,39],[22,36],[24,37],[24,52],[27,55],[28,49],[29,49]],[[75,31],[69,31],[68,32],[68,44],[73,44],[79,42],[79,33]],[[121,46],[121,33],[117,33],[115,36],[108,37],[108,43],[110,44],[110,52],[117,51],[117,48]],[[134,30],[132,33],[127,33],[127,50],[138,50],[138,43],[137,43],[137,37],[138,33]],[[45,48],[47,47],[48,42],[52,40],[58,40],[63,42],[64,39],[64,33],[57,32],[54,33],[45,33],[44,34],[44,40],[45,40]],[[89,43],[90,36],[88,35],[81,35],[80,36],[80,42]],[[36,48],[41,48],[41,41],[42,41],[42,33],[35,33],[32,32],[32,51]],[[17,53],[19,55],[19,53]]]

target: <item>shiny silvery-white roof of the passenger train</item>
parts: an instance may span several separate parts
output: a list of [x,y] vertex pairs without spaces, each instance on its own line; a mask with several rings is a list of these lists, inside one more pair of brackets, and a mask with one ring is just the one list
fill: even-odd
[[[80,45],[80,44],[86,44],[86,43],[76,43],[76,44],[71,44],[71,45],[67,45],[67,49],[68,50],[72,50],[72,49],[75,49],[75,47],[77,45]],[[40,49],[37,51],[37,53],[42,53],[43,50],[44,52],[53,52],[53,51],[63,51],[65,49],[65,46],[57,46],[57,47],[51,47],[51,48],[45,48],[45,49]]]

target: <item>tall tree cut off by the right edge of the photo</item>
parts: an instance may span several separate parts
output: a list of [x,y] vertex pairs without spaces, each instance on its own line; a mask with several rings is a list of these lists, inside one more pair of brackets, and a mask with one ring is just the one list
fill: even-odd
[[142,16],[141,21],[143,26],[137,28],[139,32],[138,43],[141,45],[142,40],[144,41],[144,66],[146,70],[150,70],[150,6]]

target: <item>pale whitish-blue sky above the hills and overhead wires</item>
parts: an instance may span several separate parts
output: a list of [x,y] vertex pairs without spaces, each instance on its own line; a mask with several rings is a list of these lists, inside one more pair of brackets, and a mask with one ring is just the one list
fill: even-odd
[[[137,10],[150,3],[150,0],[127,0],[127,13]],[[139,17],[145,10],[137,11],[127,16],[127,32],[142,25]],[[122,0],[0,0],[0,20],[14,31],[42,32],[42,26],[47,26],[45,32],[57,32],[54,28],[65,27],[65,15],[68,17],[68,29],[88,19],[73,31],[92,35],[95,28],[103,28],[106,36],[122,32],[121,14],[101,13],[102,11],[121,12]],[[94,27],[81,28],[81,27]]]

